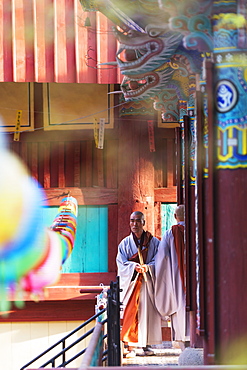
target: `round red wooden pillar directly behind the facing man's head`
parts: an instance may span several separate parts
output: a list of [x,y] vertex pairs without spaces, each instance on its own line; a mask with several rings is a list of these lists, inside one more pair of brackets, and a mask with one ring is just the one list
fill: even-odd
[[145,229],[154,233],[154,153],[149,150],[147,120],[143,117],[120,119],[118,242],[130,233],[129,216],[141,211]]

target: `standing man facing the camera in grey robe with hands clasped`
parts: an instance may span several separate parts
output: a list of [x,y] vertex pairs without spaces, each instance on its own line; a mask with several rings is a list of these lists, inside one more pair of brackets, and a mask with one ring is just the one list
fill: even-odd
[[131,233],[120,242],[116,259],[123,303],[121,340],[129,346],[126,357],[135,356],[133,347],[142,347],[143,355],[153,355],[151,345],[162,343],[161,317],[154,304],[159,239],[144,231],[144,225],[142,212],[130,215]]

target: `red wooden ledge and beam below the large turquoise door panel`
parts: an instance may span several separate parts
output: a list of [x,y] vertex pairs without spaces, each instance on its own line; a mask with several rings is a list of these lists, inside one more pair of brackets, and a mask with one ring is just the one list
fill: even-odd
[[0,322],[87,320],[95,313],[97,287],[111,281],[116,281],[114,272],[61,274],[56,286],[45,288],[39,302],[26,294],[25,307],[17,309],[13,303],[7,317],[0,313]]

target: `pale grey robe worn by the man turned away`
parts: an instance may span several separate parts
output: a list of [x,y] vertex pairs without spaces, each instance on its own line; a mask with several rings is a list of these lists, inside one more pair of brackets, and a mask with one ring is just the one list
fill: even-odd
[[[179,222],[179,224],[184,225],[184,222]],[[186,298],[171,229],[165,232],[160,242],[158,253],[155,256],[155,271],[155,304],[163,318],[170,316],[172,340],[189,340]]]

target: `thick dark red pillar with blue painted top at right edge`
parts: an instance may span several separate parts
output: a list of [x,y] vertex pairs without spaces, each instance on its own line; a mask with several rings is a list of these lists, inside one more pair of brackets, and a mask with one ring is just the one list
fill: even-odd
[[[215,355],[220,364],[246,365],[247,63],[242,58],[247,52],[247,32],[239,23],[230,32],[229,23],[221,23],[221,17],[231,14],[232,18],[233,13],[246,18],[246,2],[214,2],[213,13]],[[227,32],[218,49],[221,35]],[[228,54],[234,62],[228,62]]]

